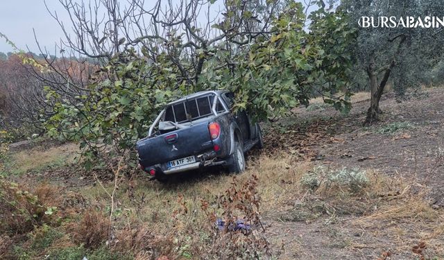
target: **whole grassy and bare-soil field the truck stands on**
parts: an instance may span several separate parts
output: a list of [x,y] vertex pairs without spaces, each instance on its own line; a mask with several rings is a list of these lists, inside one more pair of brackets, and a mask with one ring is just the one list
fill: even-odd
[[364,127],[368,95],[348,115],[314,100],[264,125],[266,148],[235,176],[162,184],[115,160],[87,172],[75,144],[10,151],[0,258],[443,259],[444,93],[385,94]]

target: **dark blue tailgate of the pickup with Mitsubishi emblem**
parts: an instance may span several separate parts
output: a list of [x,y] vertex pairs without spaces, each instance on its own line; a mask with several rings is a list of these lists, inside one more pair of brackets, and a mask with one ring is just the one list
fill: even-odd
[[212,148],[208,122],[168,132],[137,142],[139,160],[143,166],[165,163],[173,159],[198,155]]

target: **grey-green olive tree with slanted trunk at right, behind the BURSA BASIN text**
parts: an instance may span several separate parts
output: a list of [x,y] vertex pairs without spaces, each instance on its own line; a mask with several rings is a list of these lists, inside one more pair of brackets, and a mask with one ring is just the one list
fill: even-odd
[[[422,17],[442,15],[443,1],[428,0],[344,0],[339,7],[348,12],[357,25],[361,17]],[[379,24],[380,20],[379,20]],[[442,28],[359,28],[354,56],[357,69],[365,71],[370,86],[370,107],[366,123],[378,120],[382,110],[379,100],[389,80],[402,94],[407,87],[420,84],[425,69],[430,69],[443,55]]]

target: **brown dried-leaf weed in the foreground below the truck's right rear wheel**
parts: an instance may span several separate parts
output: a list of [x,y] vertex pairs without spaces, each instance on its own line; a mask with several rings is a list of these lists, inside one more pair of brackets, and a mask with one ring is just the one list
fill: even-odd
[[[234,177],[225,194],[216,198],[225,222],[222,230],[213,237],[210,254],[219,259],[262,259],[270,257],[271,249],[264,236],[265,227],[259,216],[260,197],[257,191],[258,178],[251,175],[243,184]],[[210,223],[216,223],[216,211],[209,210],[208,202],[202,201]],[[241,220],[244,228],[239,228]],[[214,225],[214,224],[213,224]],[[221,229],[221,227],[217,227]]]

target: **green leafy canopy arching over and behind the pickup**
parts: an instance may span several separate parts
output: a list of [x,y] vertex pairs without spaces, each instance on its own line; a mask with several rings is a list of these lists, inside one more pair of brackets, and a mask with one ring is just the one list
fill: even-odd
[[[45,121],[49,134],[79,141],[92,166],[107,145],[119,152],[133,148],[165,103],[202,89],[230,89],[237,97],[234,110],[249,110],[258,120],[307,105],[314,95],[347,111],[355,29],[345,13],[320,4],[307,31],[301,3],[257,2],[226,1],[223,20],[208,25],[220,32],[216,37],[201,35],[205,28],[188,19],[162,21],[168,32],[132,40],[143,43],[138,48],[120,50],[126,40],[119,40],[103,57],[97,50],[90,56],[103,65],[76,95],[65,93],[71,85],[55,87],[46,80],[46,103],[53,108]],[[186,8],[193,7],[185,13]],[[180,23],[186,33],[174,28]],[[343,95],[332,95],[336,92]]]

